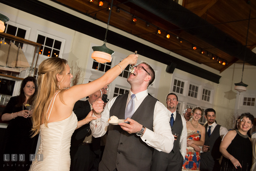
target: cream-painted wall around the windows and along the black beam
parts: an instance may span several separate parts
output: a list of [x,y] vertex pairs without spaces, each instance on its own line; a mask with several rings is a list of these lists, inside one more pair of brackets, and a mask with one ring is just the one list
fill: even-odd
[[[78,12],[75,12],[75,11],[70,10],[66,7],[63,7],[59,4],[56,4],[53,1],[49,1],[49,0],[40,0],[40,1],[42,1],[48,5],[57,7],[66,12],[69,12],[70,14],[78,16],[84,20],[90,21],[90,22],[100,25],[102,27],[106,27],[105,23],[102,23],[102,22],[94,20],[90,17],[84,16]],[[79,66],[82,68],[82,72],[84,75],[86,75],[88,59],[90,58],[89,54],[90,54],[90,50],[91,50],[91,44],[92,43],[98,44],[98,45],[103,44],[103,42],[98,39],[95,39],[95,38],[92,38],[85,34],[76,32],[69,28],[57,25],[53,22],[46,21],[42,18],[30,15],[26,12],[14,9],[12,7],[6,6],[1,3],[0,3],[0,13],[8,16],[10,18],[10,20],[13,22],[21,23],[21,24],[25,25],[26,27],[31,27],[31,33],[28,38],[31,41],[36,41],[37,30],[46,32],[49,34],[53,34],[57,37],[66,39],[63,58],[68,59],[69,63],[71,63],[71,61],[73,61],[73,64],[75,62],[79,62]],[[140,39],[138,37],[135,37],[129,33],[120,31],[117,28],[110,27],[109,30],[112,30],[114,32],[122,34],[123,36],[126,36],[128,38],[134,39],[135,41],[144,43],[150,47],[158,49],[164,53],[170,54],[178,59],[182,59],[182,60],[189,62],[193,65],[199,66],[199,67],[206,69],[212,73],[219,74],[219,71],[217,71],[213,68],[209,68],[206,65],[193,62],[187,58],[181,57],[180,55],[170,52],[169,50],[158,47],[153,43],[149,43],[149,42],[147,42],[143,39]],[[119,47],[114,46],[109,43],[107,43],[107,47],[116,52],[119,52],[119,53],[122,53],[125,55],[134,53],[134,52],[130,52],[128,50],[119,48]],[[214,98],[212,99],[212,103],[210,105],[212,105],[213,108],[217,112],[217,121],[219,124],[222,124],[224,126],[228,125],[227,123],[230,121],[226,120],[226,118],[230,114],[234,113],[235,110],[236,110],[236,112],[238,111],[238,108],[236,108],[235,105],[236,105],[236,96],[239,96],[239,95],[237,95],[236,91],[234,90],[234,83],[240,82],[240,80],[241,80],[242,64],[231,65],[228,69],[226,69],[225,71],[223,71],[220,74],[222,76],[222,78],[220,79],[220,83],[215,84],[213,82],[199,78],[197,76],[194,76],[192,74],[186,73],[186,72],[178,70],[178,69],[175,69],[174,74],[166,73],[165,69],[166,69],[167,65],[156,62],[155,60],[146,58],[146,57],[140,55],[139,52],[138,52],[138,55],[139,55],[140,60],[146,61],[150,64],[153,64],[157,68],[161,69],[160,78],[159,78],[159,82],[158,82],[159,87],[158,87],[158,90],[156,93],[157,94],[156,98],[158,98],[160,102],[165,104],[165,97],[170,92],[170,90],[172,88],[171,84],[172,84],[172,80],[174,78],[173,76],[180,75],[181,77],[187,78],[188,80],[195,80],[196,82],[199,82],[200,84],[203,84],[204,86],[212,87],[212,89],[214,90]],[[249,85],[247,87],[247,89],[250,90],[250,92],[255,92],[255,90],[256,90],[255,73],[256,73],[255,66],[246,65],[245,71],[244,71],[243,82],[245,84]],[[86,78],[86,79],[90,79],[90,78]],[[80,81],[80,83],[82,83],[82,80]],[[183,98],[186,98],[186,97],[183,97]],[[241,114],[241,112],[242,111],[239,111],[240,114]],[[255,112],[254,112],[254,115],[256,115]]]

